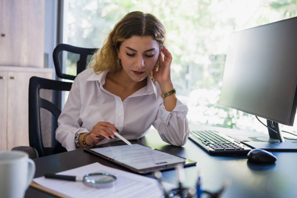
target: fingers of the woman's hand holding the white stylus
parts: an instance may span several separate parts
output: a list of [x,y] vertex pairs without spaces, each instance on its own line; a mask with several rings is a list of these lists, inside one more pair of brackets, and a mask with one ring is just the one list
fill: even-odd
[[92,139],[99,139],[101,136],[112,139],[115,138],[114,132],[118,132],[115,125],[110,122],[98,122],[91,132]]

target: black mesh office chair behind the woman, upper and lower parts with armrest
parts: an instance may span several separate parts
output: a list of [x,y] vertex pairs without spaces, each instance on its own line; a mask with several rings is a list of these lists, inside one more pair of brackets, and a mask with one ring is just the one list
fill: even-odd
[[[56,75],[61,79],[74,80],[89,64],[96,48],[79,48],[59,44],[53,50]],[[76,70],[76,71],[75,71]],[[32,77],[29,82],[29,145],[15,147],[30,158],[42,157],[66,151],[55,139],[57,119],[61,114],[62,91],[69,91],[71,82],[54,81]]]

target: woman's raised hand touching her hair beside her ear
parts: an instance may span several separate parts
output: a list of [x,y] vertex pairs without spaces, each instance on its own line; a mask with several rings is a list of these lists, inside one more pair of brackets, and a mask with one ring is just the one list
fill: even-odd
[[[161,52],[164,54],[164,59],[161,55]],[[156,82],[158,82],[161,85],[166,83],[171,83],[170,78],[170,65],[172,61],[171,53],[163,47],[161,49],[161,52],[159,53],[159,69],[157,71],[157,68],[153,68],[153,78]]]

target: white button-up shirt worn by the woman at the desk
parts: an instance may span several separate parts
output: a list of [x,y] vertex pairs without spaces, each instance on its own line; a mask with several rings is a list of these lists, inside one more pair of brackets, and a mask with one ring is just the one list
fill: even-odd
[[[92,132],[99,121],[110,122],[128,140],[144,136],[151,125],[166,143],[182,146],[189,136],[188,108],[177,100],[168,112],[161,98],[157,82],[147,77],[147,85],[128,98],[120,97],[103,88],[107,71],[96,74],[93,68],[80,73],[74,80],[64,109],[58,118],[56,139],[68,151],[75,149],[76,134]],[[107,139],[98,144],[118,139]]]

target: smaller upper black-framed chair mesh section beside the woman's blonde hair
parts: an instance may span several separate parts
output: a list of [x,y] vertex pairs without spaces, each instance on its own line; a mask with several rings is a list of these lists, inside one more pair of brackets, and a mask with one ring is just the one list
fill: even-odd
[[79,48],[59,44],[53,50],[53,62],[56,74],[61,79],[74,80],[89,64],[97,48]]

